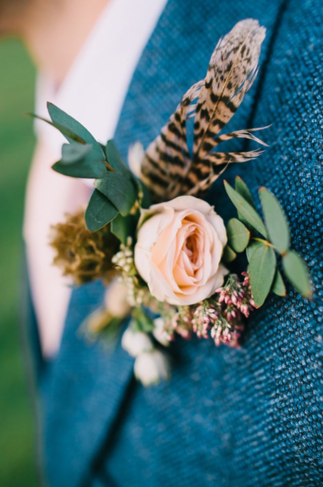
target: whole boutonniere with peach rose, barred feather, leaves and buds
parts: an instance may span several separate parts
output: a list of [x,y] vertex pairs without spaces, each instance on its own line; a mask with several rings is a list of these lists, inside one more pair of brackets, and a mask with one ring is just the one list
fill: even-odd
[[[182,97],[161,134],[146,150],[137,143],[122,160],[112,140],[101,145],[79,122],[53,104],[51,120],[68,140],[53,169],[93,178],[84,211],[53,227],[55,263],[76,284],[102,279],[105,306],[87,318],[91,337],[122,346],[135,357],[144,385],[168,378],[166,347],[180,335],[239,346],[245,320],[270,292],[286,295],[280,269],[305,298],[312,294],[303,259],[290,249],[286,217],[277,198],[259,189],[263,218],[246,184],[226,181],[237,217],[227,225],[201,196],[232,163],[250,161],[260,148],[223,152],[221,143],[254,132],[225,133],[257,75],[265,28],[238,22],[217,43],[207,74]],[[218,147],[219,146],[219,147]],[[237,253],[248,267],[234,272]],[[126,325],[127,323],[127,325]]]

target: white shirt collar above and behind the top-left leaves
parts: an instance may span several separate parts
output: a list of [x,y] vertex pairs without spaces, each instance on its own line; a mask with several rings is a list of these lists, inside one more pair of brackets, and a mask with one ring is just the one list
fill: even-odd
[[[36,113],[47,117],[51,101],[85,125],[102,143],[112,138],[126,92],[166,0],[110,0],[57,91],[40,73]],[[35,124],[37,138],[51,145],[55,157],[64,138],[53,127]]]

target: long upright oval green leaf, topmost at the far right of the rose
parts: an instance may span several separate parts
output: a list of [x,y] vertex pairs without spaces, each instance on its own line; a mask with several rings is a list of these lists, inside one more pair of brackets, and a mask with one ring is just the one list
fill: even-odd
[[259,189],[259,196],[269,240],[280,253],[284,253],[289,247],[289,229],[282,207],[266,187]]

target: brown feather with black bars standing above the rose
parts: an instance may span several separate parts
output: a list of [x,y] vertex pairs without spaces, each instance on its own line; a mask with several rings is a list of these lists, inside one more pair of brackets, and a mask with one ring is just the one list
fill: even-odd
[[[222,37],[211,56],[207,74],[182,97],[160,135],[148,146],[141,178],[156,201],[205,191],[233,162],[254,159],[263,150],[218,152],[215,148],[233,138],[246,138],[267,146],[245,129],[219,135],[231,120],[258,73],[258,60],[266,29],[255,19],[241,20]],[[193,147],[188,148],[186,122],[194,118]]]

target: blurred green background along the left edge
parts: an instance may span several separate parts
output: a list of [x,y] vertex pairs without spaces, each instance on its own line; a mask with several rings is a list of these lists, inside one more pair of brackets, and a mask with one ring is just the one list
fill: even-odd
[[35,418],[19,324],[21,225],[34,136],[34,68],[0,41],[0,486],[37,486]]

